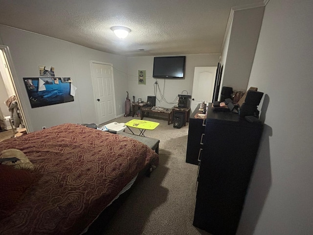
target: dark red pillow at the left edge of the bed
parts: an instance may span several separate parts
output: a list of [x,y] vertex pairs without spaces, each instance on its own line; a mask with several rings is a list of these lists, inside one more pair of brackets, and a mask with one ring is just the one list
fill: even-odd
[[0,164],[0,220],[14,209],[35,178],[30,171]]

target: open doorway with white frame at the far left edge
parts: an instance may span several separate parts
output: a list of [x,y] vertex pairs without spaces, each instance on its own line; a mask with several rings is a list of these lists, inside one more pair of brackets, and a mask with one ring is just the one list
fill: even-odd
[[[10,97],[15,96],[17,100],[17,106],[19,109],[19,118],[21,121],[20,128],[26,127],[27,132],[29,132],[29,128],[27,126],[27,122],[24,116],[24,112],[22,109],[22,104],[20,102],[19,94],[17,93],[16,86],[14,84],[13,76],[15,75],[15,70],[11,58],[11,54],[9,48],[7,46],[0,45],[0,79],[1,84],[3,84],[1,88],[1,100],[0,100],[0,112],[1,119],[5,120],[4,117],[10,117],[11,113],[8,111],[8,107],[3,104]],[[2,105],[3,104],[3,105]],[[9,129],[12,125],[8,124],[8,121],[5,122],[7,129]]]

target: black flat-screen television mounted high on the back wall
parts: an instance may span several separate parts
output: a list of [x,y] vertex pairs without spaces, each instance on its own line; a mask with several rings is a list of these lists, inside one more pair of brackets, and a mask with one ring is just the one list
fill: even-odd
[[183,78],[186,56],[155,57],[153,62],[153,77]]

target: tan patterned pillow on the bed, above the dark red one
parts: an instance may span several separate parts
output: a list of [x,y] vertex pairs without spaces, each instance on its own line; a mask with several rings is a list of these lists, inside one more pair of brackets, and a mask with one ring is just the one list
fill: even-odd
[[20,161],[12,162],[3,162],[5,165],[12,165],[16,169],[26,169],[32,170],[34,165],[29,161],[26,155],[19,149],[10,148],[7,150],[3,150],[1,152],[0,158],[18,158]]

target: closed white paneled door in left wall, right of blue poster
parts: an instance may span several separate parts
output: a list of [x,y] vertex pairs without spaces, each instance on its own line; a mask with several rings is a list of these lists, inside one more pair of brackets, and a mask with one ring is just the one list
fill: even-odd
[[99,125],[115,118],[113,71],[111,65],[91,62],[91,72]]

